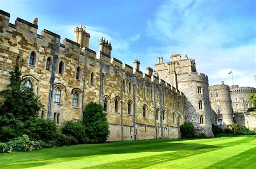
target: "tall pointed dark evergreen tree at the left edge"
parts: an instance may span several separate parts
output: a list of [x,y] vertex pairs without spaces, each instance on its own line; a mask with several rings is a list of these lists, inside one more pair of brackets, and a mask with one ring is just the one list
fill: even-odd
[[23,83],[25,79],[21,78],[19,68],[22,63],[17,57],[14,70],[9,72],[10,89],[0,93],[4,95],[4,101],[0,104],[0,141],[17,137],[18,131],[24,128],[24,122],[31,117],[37,118],[38,111],[43,107],[32,87],[26,87]]

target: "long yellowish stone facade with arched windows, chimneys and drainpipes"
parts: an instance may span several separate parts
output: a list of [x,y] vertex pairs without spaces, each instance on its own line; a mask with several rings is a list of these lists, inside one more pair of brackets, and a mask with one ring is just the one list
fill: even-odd
[[[110,126],[109,141],[179,138],[185,120],[184,94],[163,79],[111,57],[110,42],[101,38],[99,51],[89,49],[90,34],[75,28],[75,42],[48,30],[37,34],[34,23],[0,11],[0,91],[8,86],[8,71],[17,56],[24,60],[25,84],[41,97],[42,118],[58,125],[79,120],[86,104],[103,105]],[[3,97],[1,98],[3,99]]]

